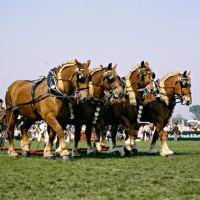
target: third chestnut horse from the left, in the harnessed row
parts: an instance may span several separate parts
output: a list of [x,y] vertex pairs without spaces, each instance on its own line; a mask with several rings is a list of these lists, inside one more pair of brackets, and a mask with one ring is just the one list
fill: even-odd
[[[105,110],[104,117],[101,123],[101,131],[102,131],[102,140],[100,145],[105,146],[106,140],[106,128],[105,125],[113,125],[114,130],[112,134],[112,149],[115,152],[118,152],[116,147],[116,133],[117,127],[119,124],[123,125],[127,132],[127,138],[124,142],[124,150],[125,154],[129,155],[131,149],[135,147],[134,142],[134,128],[131,125],[131,119],[137,118],[137,110],[138,105],[144,100],[148,85],[148,90],[154,91],[155,87],[152,83],[155,77],[154,72],[150,68],[147,62],[142,61],[141,64],[137,64],[130,73],[125,77],[125,85],[126,90],[128,92],[127,99],[123,101],[115,101],[115,103],[109,108]],[[97,135],[96,141],[100,140]],[[135,147],[135,151],[137,151],[137,147]],[[124,154],[123,154],[124,155]]]

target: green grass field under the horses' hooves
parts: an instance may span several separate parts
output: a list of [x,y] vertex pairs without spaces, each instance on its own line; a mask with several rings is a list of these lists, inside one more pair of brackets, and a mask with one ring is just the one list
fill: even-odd
[[[13,160],[7,151],[0,151],[0,200],[200,199],[200,142],[169,141],[175,152],[172,158],[149,156],[148,144],[137,142],[137,156],[124,158],[108,150],[98,156],[82,153],[72,162],[60,157],[46,161],[42,155]],[[35,142],[31,149],[36,146]],[[85,147],[85,142],[80,146]]]

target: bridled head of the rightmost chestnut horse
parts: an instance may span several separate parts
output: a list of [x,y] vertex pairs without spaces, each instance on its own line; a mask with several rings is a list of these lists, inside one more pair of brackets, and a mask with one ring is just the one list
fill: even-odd
[[189,106],[192,103],[190,72],[179,74],[175,83],[175,93],[179,96],[181,104]]

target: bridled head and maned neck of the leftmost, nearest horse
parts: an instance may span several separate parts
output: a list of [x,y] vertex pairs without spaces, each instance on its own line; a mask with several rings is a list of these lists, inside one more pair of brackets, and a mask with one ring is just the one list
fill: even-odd
[[64,94],[69,95],[70,90],[74,92],[75,98],[85,100],[89,95],[89,65],[80,63],[76,59],[60,66],[57,72],[58,88]]

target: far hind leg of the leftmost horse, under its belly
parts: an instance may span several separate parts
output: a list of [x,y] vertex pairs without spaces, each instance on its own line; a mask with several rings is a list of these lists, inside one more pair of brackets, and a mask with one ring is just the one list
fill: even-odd
[[30,141],[27,134],[28,129],[35,121],[26,119],[25,122],[20,126],[21,134],[22,134],[22,140],[21,140],[21,153],[23,156],[29,156],[30,155]]

